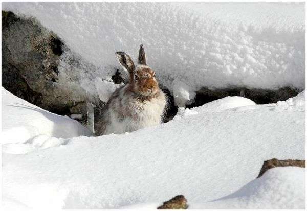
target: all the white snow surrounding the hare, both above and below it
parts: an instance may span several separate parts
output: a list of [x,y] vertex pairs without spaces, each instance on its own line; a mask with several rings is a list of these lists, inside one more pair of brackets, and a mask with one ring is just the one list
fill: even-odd
[[156,208],[179,194],[192,209],[305,208],[304,169],[274,168],[255,179],[265,160],[305,159],[305,91],[276,104],[226,97],[184,108],[202,86],[304,89],[304,2],[3,2],[2,9],[59,35],[58,83],[87,100],[108,100],[122,85],[112,82],[116,69],[127,77],[115,52],[136,61],[142,43],[179,106],[165,124],[92,137],[2,88],[6,210]]

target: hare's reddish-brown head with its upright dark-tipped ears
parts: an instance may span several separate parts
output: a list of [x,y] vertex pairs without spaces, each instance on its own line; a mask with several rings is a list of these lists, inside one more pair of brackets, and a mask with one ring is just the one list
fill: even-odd
[[116,52],[119,63],[129,72],[129,85],[133,92],[138,95],[155,95],[159,90],[159,85],[153,71],[146,64],[145,51],[143,45],[139,51],[139,65],[135,66],[132,59],[125,52]]

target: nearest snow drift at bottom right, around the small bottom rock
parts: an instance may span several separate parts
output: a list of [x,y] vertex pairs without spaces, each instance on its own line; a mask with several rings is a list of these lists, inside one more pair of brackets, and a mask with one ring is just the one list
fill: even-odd
[[[156,209],[162,203],[123,206],[120,209]],[[188,203],[189,204],[189,203]],[[238,191],[189,209],[305,209],[305,169],[277,167]]]

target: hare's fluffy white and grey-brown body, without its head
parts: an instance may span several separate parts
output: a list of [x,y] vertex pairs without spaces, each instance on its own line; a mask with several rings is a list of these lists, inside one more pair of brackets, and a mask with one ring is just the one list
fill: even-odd
[[95,126],[97,135],[121,134],[161,123],[166,104],[164,93],[160,90],[155,97],[140,98],[129,91],[128,84],[117,89]]

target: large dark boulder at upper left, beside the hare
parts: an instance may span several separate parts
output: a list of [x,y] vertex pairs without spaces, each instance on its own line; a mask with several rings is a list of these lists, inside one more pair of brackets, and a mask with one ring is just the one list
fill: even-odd
[[66,81],[60,78],[60,62],[72,67],[68,60],[74,60],[61,57],[64,49],[63,41],[36,19],[2,11],[2,86],[43,109],[68,116],[79,113],[86,120],[86,92],[69,87],[77,80],[67,73]]

